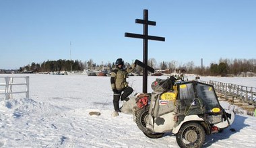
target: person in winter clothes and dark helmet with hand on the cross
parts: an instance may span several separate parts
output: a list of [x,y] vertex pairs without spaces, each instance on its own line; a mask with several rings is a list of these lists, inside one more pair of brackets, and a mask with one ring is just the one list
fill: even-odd
[[135,60],[135,63],[129,69],[124,69],[123,59],[117,59],[115,63],[116,68],[111,71],[110,83],[114,92],[113,105],[116,112],[121,112],[119,109],[119,100],[128,101],[129,98],[127,97],[133,92],[133,88],[129,87],[126,78],[128,73],[131,73],[135,69],[136,63],[137,60]]

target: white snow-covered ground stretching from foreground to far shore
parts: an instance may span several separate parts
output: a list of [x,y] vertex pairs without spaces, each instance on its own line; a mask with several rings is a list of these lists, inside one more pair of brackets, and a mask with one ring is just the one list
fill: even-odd
[[[0,147],[179,147],[171,133],[160,139],[143,135],[131,114],[111,116],[110,77],[0,75],[3,76],[29,76],[30,98],[16,94],[12,100],[3,100],[0,96]],[[149,92],[155,79],[148,77]],[[203,81],[210,79],[256,86],[256,77],[201,77]],[[142,91],[142,77],[129,77],[128,81],[133,94]],[[228,107],[225,102],[221,104]],[[91,111],[101,115],[90,116]],[[256,147],[255,133],[256,117],[236,114],[231,127],[206,137],[204,147]]]

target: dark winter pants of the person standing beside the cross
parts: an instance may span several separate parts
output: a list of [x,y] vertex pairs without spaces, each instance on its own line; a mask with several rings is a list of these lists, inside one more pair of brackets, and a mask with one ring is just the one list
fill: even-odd
[[[122,94],[123,91],[123,94]],[[113,98],[113,105],[114,105],[114,109],[115,111],[119,110],[119,100],[120,100],[120,96],[121,96],[121,100],[126,100],[126,98],[133,92],[133,88],[132,87],[126,87],[123,90],[119,90],[118,93],[114,93],[114,98]]]

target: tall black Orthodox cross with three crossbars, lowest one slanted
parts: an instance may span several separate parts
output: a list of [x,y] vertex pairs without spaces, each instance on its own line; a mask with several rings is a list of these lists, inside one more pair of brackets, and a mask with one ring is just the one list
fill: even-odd
[[143,67],[143,93],[148,90],[148,71],[154,73],[154,69],[148,66],[148,40],[165,41],[165,38],[148,35],[148,25],[156,26],[156,22],[148,20],[148,9],[143,10],[143,20],[136,19],[135,23],[143,24],[143,34],[131,34],[125,32],[125,37],[143,39],[143,63],[139,61],[137,65]]

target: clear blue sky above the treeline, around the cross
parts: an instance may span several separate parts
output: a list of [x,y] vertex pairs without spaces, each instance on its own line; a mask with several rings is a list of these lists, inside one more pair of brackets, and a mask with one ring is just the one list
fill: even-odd
[[[148,9],[148,58],[193,61],[196,66],[219,59],[256,58],[254,0],[0,0],[0,69],[19,69],[47,60],[71,59],[113,63],[143,60],[143,42],[125,38],[142,34]],[[71,42],[71,46],[70,46]]]

